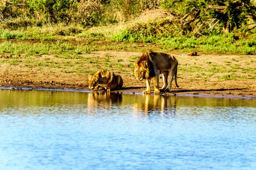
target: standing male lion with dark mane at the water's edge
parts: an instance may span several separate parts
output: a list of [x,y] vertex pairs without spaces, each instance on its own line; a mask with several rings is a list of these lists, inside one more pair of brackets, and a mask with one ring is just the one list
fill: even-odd
[[[177,85],[178,61],[173,55],[144,51],[140,59],[138,59],[134,65],[134,76],[137,80],[141,81],[146,79],[147,89],[143,91],[143,94],[150,94],[150,80],[152,77],[154,77],[154,94],[160,94],[160,91],[170,92],[174,75],[175,84],[179,87]],[[159,74],[163,75],[163,87],[160,91]],[[168,76],[169,83],[167,83]]]

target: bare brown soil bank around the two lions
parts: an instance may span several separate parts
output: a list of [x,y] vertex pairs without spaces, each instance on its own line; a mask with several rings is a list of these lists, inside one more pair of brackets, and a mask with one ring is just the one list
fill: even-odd
[[[145,81],[137,81],[133,75],[133,68],[129,63],[134,62],[139,57],[139,52],[118,52],[118,51],[96,51],[92,54],[83,54],[88,59],[103,60],[108,57],[110,62],[122,62],[122,68],[110,66],[107,69],[120,74],[124,80],[122,93],[142,93],[145,90]],[[224,97],[243,97],[256,98],[256,80],[255,56],[230,56],[230,55],[203,55],[188,56],[187,54],[175,54],[179,61],[177,82],[180,88],[172,83],[172,93],[169,95],[193,95],[193,96],[224,96]],[[135,57],[135,58],[134,58]],[[45,60],[47,59],[47,60]],[[0,60],[3,60],[1,58]],[[0,86],[2,87],[31,87],[31,88],[71,88],[87,90],[88,73],[65,73],[63,70],[71,69],[64,66],[67,59],[58,58],[53,55],[43,55],[32,57],[29,62],[58,61],[61,68],[54,67],[29,67],[29,63],[23,54],[20,55],[20,61],[15,65],[10,65],[8,59],[6,62],[0,62]],[[78,60],[79,59],[73,59]],[[73,61],[72,60],[72,61]],[[71,61],[71,59],[70,59]],[[90,64],[81,62],[85,71],[96,71],[106,66],[104,64]],[[232,66],[239,65],[239,68]],[[75,67],[75,66],[73,66]],[[213,68],[212,68],[213,67]],[[229,67],[234,68],[227,72]],[[214,68],[217,71],[214,72]],[[242,69],[251,68],[251,69]],[[223,69],[222,71],[218,69]],[[254,69],[254,70],[253,70]],[[249,70],[249,71],[248,71]],[[229,79],[229,76],[236,74],[238,78]],[[227,79],[221,79],[227,75]],[[244,77],[244,78],[243,78]],[[154,80],[151,80],[151,92],[154,92]],[[160,86],[163,85],[160,79]],[[168,94],[167,94],[168,95]]]

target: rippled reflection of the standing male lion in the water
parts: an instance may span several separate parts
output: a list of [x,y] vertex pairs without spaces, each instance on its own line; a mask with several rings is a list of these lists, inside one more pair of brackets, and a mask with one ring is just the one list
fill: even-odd
[[[154,100],[152,100],[154,98]],[[159,114],[164,116],[164,114],[171,113],[175,115],[176,112],[176,98],[172,96],[159,96],[159,95],[150,95],[144,94],[143,99],[145,102],[136,102],[133,105],[133,114],[139,115],[143,113],[145,116],[149,114]],[[144,100],[143,100],[144,101]]]

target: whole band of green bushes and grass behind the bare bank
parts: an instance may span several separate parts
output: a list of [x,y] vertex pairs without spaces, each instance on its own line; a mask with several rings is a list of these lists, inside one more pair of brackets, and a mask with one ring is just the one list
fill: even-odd
[[[103,49],[95,48],[96,42],[134,47],[150,42],[158,51],[256,54],[255,0],[0,0],[0,4],[3,40],[58,44],[79,40],[96,50]],[[54,51],[41,42],[47,53]],[[2,54],[12,51],[8,43],[1,46]]]

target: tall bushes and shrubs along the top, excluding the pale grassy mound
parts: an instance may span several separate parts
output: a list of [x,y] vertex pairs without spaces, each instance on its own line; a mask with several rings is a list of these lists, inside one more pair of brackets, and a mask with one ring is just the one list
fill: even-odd
[[[0,3],[6,1],[0,0]],[[173,18],[135,23],[115,35],[114,39],[154,42],[169,37],[201,37],[256,28],[256,2],[251,0],[9,0],[8,4],[0,6],[0,27],[17,30],[56,23],[105,26],[134,20],[143,11],[152,9],[165,11]],[[69,27],[49,33],[44,40],[53,40],[55,35],[72,36],[81,32],[81,29]],[[40,35],[41,32],[33,35],[2,34],[1,38],[42,39]],[[101,37],[104,36],[95,39]]]

